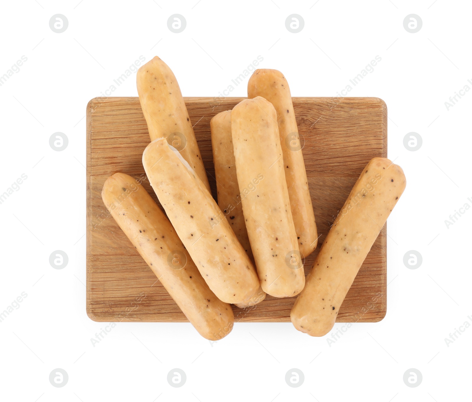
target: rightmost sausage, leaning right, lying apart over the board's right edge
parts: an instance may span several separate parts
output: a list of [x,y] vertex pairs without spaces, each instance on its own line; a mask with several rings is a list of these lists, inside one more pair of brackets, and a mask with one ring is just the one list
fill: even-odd
[[293,325],[312,336],[328,334],[346,293],[388,215],[405,190],[403,170],[373,158],[354,184],[290,313]]

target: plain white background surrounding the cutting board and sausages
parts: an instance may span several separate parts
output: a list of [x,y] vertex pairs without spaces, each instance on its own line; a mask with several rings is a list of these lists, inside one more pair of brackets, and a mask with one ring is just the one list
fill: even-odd
[[[0,193],[27,179],[0,205],[0,311],[26,292],[0,323],[2,401],[455,401],[470,398],[472,328],[472,91],[445,102],[472,80],[468,1],[8,1],[2,2],[0,75],[27,61],[0,87]],[[77,4],[79,3],[79,4]],[[68,19],[52,32],[54,14]],[[180,34],[167,19],[181,14]],[[290,14],[304,19],[293,34]],[[403,20],[423,25],[408,33]],[[156,44],[158,43],[158,44]],[[293,96],[337,96],[376,55],[381,61],[351,96],[388,105],[388,156],[407,187],[388,220],[388,313],[355,324],[335,343],[311,338],[290,323],[236,324],[211,343],[190,324],[119,323],[90,341],[104,323],[85,314],[85,106],[109,89],[134,60],[159,55],[184,96],[218,96],[258,55],[261,68],[284,72]],[[232,96],[246,95],[246,81]],[[469,83],[472,87],[472,84]],[[113,93],[137,96],[135,75]],[[67,135],[62,152],[49,145]],[[421,149],[405,149],[417,132]],[[64,250],[66,268],[49,264]],[[421,253],[407,269],[408,250]],[[468,318],[471,316],[471,318]],[[336,324],[334,332],[341,328]],[[49,382],[67,371],[62,388]],[[167,382],[185,371],[184,386]],[[303,371],[289,387],[291,368]],[[407,387],[409,368],[422,383]],[[39,398],[39,399],[38,399]]]

